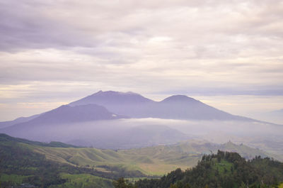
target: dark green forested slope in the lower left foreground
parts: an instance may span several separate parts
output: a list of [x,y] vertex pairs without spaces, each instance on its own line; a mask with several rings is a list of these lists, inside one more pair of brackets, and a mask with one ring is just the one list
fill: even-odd
[[[18,187],[25,183],[35,187],[112,187],[112,179],[142,177],[138,171],[115,169],[95,170],[71,163],[49,160],[32,148],[54,148],[63,143],[38,143],[0,135],[0,187]],[[64,148],[62,148],[64,149]],[[74,149],[74,148],[73,148]]]

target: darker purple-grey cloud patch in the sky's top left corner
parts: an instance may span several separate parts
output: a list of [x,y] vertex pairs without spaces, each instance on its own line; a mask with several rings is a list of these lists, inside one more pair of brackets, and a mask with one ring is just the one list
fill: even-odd
[[48,18],[42,5],[35,1],[6,1],[0,4],[0,50],[15,51],[30,48],[69,48],[93,46],[86,35],[74,28]]

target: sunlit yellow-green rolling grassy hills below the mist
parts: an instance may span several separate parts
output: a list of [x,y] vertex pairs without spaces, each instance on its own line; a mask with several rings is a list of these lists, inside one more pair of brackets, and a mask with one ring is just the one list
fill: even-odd
[[158,145],[132,150],[98,150],[96,148],[52,148],[38,145],[27,145],[37,153],[44,154],[47,159],[64,162],[70,165],[89,166],[97,170],[109,170],[101,166],[125,167],[127,170],[139,170],[146,175],[163,175],[177,167],[183,170],[193,167],[203,153],[216,153],[218,149],[240,153],[244,157],[255,155],[267,156],[260,150],[248,148],[246,145],[226,143],[183,142],[176,145]]

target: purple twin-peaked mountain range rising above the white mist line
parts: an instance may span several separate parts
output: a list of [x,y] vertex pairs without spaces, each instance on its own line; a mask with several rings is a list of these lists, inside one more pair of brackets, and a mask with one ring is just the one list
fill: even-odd
[[231,115],[185,95],[174,95],[163,101],[153,101],[134,92],[100,91],[52,111],[0,122],[0,128],[25,122],[67,123],[113,118],[255,121],[251,118]]

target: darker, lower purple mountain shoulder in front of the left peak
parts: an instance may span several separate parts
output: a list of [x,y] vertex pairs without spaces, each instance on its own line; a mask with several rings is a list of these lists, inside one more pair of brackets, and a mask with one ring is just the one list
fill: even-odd
[[[100,135],[101,132],[96,130],[96,122],[119,118],[127,117],[113,114],[103,106],[96,104],[74,107],[63,105],[52,111],[47,111],[45,114],[37,116],[30,121],[1,128],[0,133],[44,142],[52,140],[66,142],[78,138],[85,139],[84,136],[96,139],[95,136],[103,138],[107,134],[104,128],[105,132],[103,135]],[[88,126],[85,129],[81,128],[81,124],[86,125],[86,123],[88,123]],[[108,132],[110,131],[108,130]]]

